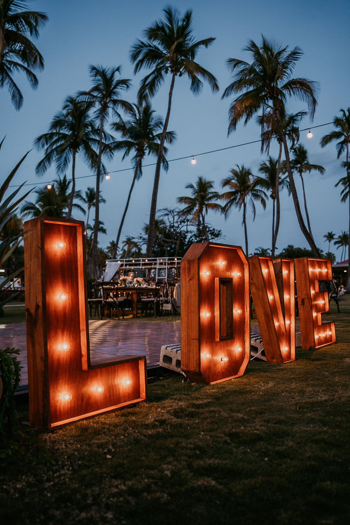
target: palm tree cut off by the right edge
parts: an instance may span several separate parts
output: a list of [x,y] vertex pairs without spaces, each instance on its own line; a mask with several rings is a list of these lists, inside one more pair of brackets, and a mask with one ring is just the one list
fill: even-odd
[[[324,135],[321,139],[321,146],[324,148],[327,144],[330,144],[333,141],[338,141],[336,144],[337,149],[337,159],[340,158],[342,153],[346,151],[346,160],[342,163],[342,166],[346,169],[346,176],[342,177],[337,183],[342,184],[343,190],[341,192],[342,202],[345,202],[347,199],[347,195],[350,190],[350,163],[349,163],[349,143],[350,143],[350,107],[340,110],[341,115],[340,117],[334,117],[333,124],[336,130],[332,131],[331,133],[328,133],[328,135]],[[344,198],[345,197],[345,198]],[[349,232],[350,232],[350,199],[349,199]],[[350,239],[349,239],[350,243]],[[350,247],[350,244],[349,244]],[[349,248],[348,247],[348,248]],[[347,250],[349,253],[349,249]],[[350,258],[347,266],[347,288],[350,288]]]

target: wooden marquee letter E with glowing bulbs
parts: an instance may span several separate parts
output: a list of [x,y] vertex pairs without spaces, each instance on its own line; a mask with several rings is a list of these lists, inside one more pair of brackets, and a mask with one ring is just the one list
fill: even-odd
[[333,344],[334,323],[322,323],[321,318],[330,309],[328,293],[319,289],[319,281],[332,279],[331,261],[302,257],[294,262],[302,348],[314,350]]

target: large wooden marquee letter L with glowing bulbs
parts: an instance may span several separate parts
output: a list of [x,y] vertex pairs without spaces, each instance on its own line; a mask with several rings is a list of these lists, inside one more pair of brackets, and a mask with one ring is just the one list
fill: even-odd
[[146,359],[90,363],[84,223],[38,217],[24,239],[30,425],[50,428],[147,400]]

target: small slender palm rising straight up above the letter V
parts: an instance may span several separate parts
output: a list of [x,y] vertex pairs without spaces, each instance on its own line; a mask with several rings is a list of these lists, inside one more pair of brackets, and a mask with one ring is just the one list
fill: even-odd
[[[264,175],[264,182],[260,181],[260,187],[263,187],[265,190],[270,191],[270,197],[272,198],[272,248],[271,248],[271,257],[274,257],[274,250],[277,240],[276,230],[278,232],[278,227],[275,227],[275,203],[277,197],[279,196],[279,191],[287,187],[289,189],[289,183],[287,177],[282,178],[279,176],[279,181],[277,177],[279,174],[280,158],[273,159],[271,155],[269,156],[267,162],[262,162],[259,167],[259,172]],[[279,197],[278,197],[279,198]],[[278,201],[279,204],[279,201]],[[280,217],[278,217],[279,219]],[[277,218],[276,218],[277,221]]]

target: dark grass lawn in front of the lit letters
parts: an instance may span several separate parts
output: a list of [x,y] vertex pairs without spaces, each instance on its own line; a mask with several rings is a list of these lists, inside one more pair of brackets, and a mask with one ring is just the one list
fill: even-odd
[[[0,467],[0,521],[13,524],[334,524],[350,520],[350,298],[337,343],[285,365],[252,362],[213,386],[179,375],[149,404],[41,435]],[[28,419],[28,406],[20,407]]]

